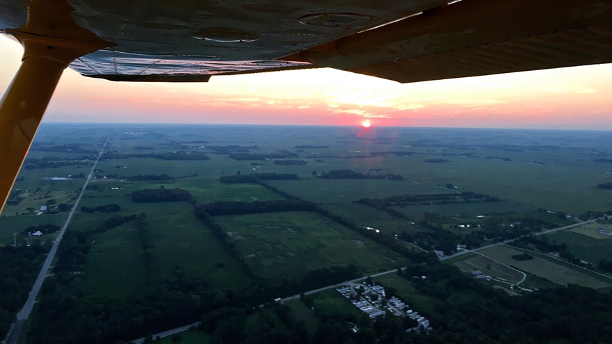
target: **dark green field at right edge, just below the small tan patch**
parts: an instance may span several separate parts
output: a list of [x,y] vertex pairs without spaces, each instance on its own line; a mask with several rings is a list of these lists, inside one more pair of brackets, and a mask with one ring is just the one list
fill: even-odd
[[[599,234],[596,230],[595,233]],[[549,243],[565,243],[567,251],[594,265],[597,265],[602,259],[611,259],[612,257],[612,236],[596,239],[574,231],[556,231],[547,234],[547,237]]]

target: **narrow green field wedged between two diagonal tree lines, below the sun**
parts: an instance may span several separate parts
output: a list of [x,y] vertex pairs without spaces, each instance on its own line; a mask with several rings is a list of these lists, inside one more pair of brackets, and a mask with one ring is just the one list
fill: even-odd
[[337,215],[347,218],[356,224],[363,227],[372,227],[383,233],[407,231],[414,233],[417,231],[430,231],[430,229],[421,227],[414,222],[398,218],[397,216],[379,211],[371,206],[366,206],[359,203],[339,203],[339,204],[323,204],[323,208],[336,213]]

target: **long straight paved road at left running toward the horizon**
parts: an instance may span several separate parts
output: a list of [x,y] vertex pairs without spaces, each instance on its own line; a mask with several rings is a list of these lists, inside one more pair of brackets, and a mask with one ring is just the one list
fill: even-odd
[[68,225],[70,224],[70,221],[72,220],[72,215],[74,215],[74,212],[77,211],[77,206],[79,205],[79,202],[81,202],[81,197],[83,197],[83,194],[85,193],[87,184],[92,178],[95,167],[98,161],[100,160],[100,156],[102,156],[102,153],[104,152],[104,147],[106,147],[106,143],[108,143],[108,140],[111,138],[111,136],[108,136],[108,138],[106,138],[106,141],[104,142],[104,145],[102,146],[102,149],[100,149],[100,153],[98,154],[98,157],[96,158],[95,163],[91,167],[91,172],[89,173],[85,183],[83,184],[81,193],[79,194],[77,201],[74,202],[74,206],[72,206],[72,209],[70,210],[70,214],[68,215],[68,218],[66,222],[64,223],[64,227],[62,227],[60,234],[54,241],[53,246],[51,247],[51,250],[49,251],[49,254],[47,255],[47,259],[45,259],[45,263],[42,264],[42,268],[40,269],[40,272],[38,273],[38,277],[36,278],[36,281],[34,282],[32,291],[28,295],[28,300],[26,300],[26,304],[24,304],[24,307],[22,308],[22,310],[19,311],[19,313],[17,313],[17,322],[15,322],[15,326],[13,326],[13,329],[11,329],[10,333],[8,334],[6,344],[17,344],[17,339],[19,339],[19,334],[21,334],[22,328],[24,326],[24,322],[29,318],[30,313],[32,312],[34,303],[36,301],[36,297],[38,297],[38,292],[40,291],[40,287],[42,286],[42,281],[44,281],[45,277],[47,277],[48,275],[49,268],[51,267],[51,263],[53,263],[55,254],[57,253],[57,249],[60,246],[64,233],[66,229],[68,228]]

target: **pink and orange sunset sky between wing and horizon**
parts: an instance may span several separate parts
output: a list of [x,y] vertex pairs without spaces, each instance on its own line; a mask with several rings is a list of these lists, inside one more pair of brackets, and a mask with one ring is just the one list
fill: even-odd
[[[0,35],[0,90],[22,48]],[[113,83],[64,73],[46,122],[612,129],[612,65],[402,85],[334,69]]]

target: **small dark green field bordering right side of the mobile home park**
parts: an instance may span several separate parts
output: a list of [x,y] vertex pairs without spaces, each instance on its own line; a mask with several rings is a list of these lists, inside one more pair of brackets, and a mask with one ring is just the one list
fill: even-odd
[[411,281],[398,276],[396,272],[376,277],[374,281],[380,282],[383,286],[395,288],[398,297],[413,311],[432,314],[440,305],[440,300],[419,293]]

